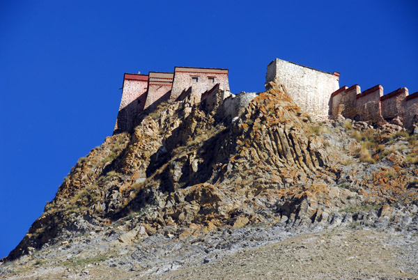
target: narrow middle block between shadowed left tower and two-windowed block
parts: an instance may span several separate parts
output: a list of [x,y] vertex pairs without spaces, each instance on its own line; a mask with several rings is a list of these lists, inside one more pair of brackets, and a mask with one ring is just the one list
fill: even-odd
[[157,107],[161,102],[169,100],[172,86],[173,73],[150,72],[144,109]]

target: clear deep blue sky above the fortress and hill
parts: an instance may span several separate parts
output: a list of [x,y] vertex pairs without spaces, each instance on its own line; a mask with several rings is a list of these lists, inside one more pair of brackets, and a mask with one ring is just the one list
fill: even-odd
[[0,2],[0,258],[79,157],[111,135],[124,72],[229,68],[263,91],[274,58],[340,86],[418,91],[417,1]]

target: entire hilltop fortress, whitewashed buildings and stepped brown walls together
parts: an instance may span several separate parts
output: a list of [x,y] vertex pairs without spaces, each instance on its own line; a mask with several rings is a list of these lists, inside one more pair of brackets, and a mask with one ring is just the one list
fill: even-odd
[[[228,72],[223,68],[175,67],[174,72],[125,74],[114,133],[132,130],[139,114],[155,110],[161,102],[183,100],[189,95],[208,108],[220,108],[222,116],[238,116],[257,93],[231,94]],[[363,92],[357,84],[339,88],[339,76],[338,72],[274,59],[267,67],[265,79],[266,84],[282,84],[286,94],[309,114],[342,115],[378,125],[392,122],[408,129],[418,123],[418,93],[408,95],[408,88],[399,88],[383,95],[380,85]],[[187,111],[191,110],[187,107]]]

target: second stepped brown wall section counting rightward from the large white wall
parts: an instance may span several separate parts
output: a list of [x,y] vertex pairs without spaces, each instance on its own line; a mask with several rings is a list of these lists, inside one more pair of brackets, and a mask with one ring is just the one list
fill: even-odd
[[359,120],[370,120],[372,123],[382,123],[380,97],[383,87],[378,84],[356,96],[357,116]]

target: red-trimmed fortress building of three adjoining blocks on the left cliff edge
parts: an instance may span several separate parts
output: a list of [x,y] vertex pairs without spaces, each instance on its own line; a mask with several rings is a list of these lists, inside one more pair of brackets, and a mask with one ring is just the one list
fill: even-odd
[[175,67],[172,73],[125,73],[114,133],[132,130],[137,115],[144,110],[153,111],[161,102],[201,95],[215,86],[229,91],[228,69]]

